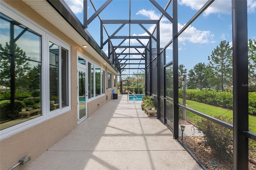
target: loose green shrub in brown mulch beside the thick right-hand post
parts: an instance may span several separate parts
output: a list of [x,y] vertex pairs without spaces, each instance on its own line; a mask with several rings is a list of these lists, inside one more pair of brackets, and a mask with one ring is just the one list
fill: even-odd
[[[231,123],[232,119],[225,117],[217,117],[224,122]],[[204,134],[204,140],[200,142],[205,148],[211,148],[212,154],[219,160],[228,160],[232,162],[232,148],[233,148],[233,131],[222,127],[207,119],[202,119],[198,122],[196,127]]]

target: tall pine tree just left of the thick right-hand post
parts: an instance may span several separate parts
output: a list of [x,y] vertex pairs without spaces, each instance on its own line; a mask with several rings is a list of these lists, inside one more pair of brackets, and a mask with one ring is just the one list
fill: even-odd
[[[209,66],[214,71],[215,79],[220,82],[220,89],[224,91],[224,84],[232,81],[232,47],[226,40],[208,56]],[[218,85],[218,84],[216,84]]]

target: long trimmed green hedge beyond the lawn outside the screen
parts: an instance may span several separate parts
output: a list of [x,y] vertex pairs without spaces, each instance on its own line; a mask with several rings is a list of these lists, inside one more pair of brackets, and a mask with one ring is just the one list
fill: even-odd
[[[179,97],[183,97],[183,90],[179,89]],[[256,115],[256,92],[249,92],[249,111],[248,113]],[[233,91],[216,91],[216,90],[188,90],[186,99],[206,103],[208,105],[221,106],[233,109]]]

